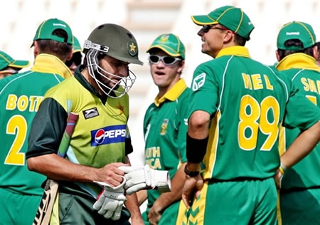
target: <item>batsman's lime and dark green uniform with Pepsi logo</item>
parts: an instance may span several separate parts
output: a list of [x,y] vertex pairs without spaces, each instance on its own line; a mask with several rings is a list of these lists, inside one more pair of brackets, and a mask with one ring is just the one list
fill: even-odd
[[[57,154],[68,113],[75,112],[79,118],[65,158],[75,164],[97,168],[112,162],[124,162],[125,156],[132,152],[127,127],[129,96],[107,98],[99,95],[79,69],[73,78],[64,80],[46,93],[33,122],[27,157]],[[114,224],[92,208],[101,191],[101,187],[93,183],[59,182],[56,202],[59,207],[53,211],[51,218],[54,221],[51,222]],[[66,205],[70,206],[68,210]],[[73,221],[68,221],[71,218]]]

